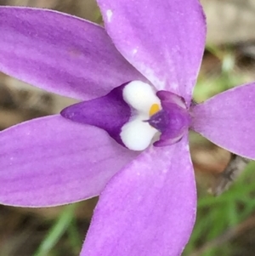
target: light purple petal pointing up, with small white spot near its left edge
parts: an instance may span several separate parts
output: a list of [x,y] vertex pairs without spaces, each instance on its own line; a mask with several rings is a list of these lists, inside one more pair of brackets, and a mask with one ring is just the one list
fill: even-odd
[[190,104],[206,38],[197,0],[98,0],[105,28],[122,55],[157,89]]

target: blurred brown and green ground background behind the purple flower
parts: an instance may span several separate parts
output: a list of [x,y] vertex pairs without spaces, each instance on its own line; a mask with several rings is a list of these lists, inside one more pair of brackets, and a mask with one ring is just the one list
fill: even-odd
[[[202,0],[207,48],[194,99],[255,81],[255,1]],[[102,24],[94,0],[0,0],[0,5],[58,9]],[[58,113],[73,100],[0,73],[0,129]],[[198,188],[198,212],[184,256],[254,256],[255,164],[250,162],[228,191],[210,189],[229,162],[229,152],[190,133]],[[1,189],[1,188],[0,188]],[[0,206],[0,256],[77,256],[97,199],[58,208]]]

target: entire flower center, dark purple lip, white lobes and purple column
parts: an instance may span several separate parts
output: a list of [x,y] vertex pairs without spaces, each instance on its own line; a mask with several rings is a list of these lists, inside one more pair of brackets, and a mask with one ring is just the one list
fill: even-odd
[[140,81],[124,83],[105,96],[71,105],[61,115],[102,128],[133,151],[143,151],[151,143],[176,143],[190,126],[183,98],[167,91],[156,92]]

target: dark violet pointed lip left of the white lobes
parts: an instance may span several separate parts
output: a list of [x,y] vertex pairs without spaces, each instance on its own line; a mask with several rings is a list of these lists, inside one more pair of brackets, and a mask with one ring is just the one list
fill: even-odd
[[74,122],[94,125],[104,129],[116,142],[125,146],[121,139],[122,126],[131,117],[131,108],[123,100],[122,91],[125,83],[114,88],[103,97],[88,100],[66,107],[62,117]]

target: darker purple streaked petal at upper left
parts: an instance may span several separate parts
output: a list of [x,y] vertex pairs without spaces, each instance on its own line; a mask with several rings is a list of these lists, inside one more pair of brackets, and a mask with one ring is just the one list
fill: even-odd
[[0,71],[39,88],[88,100],[144,80],[105,29],[47,9],[0,8]]

